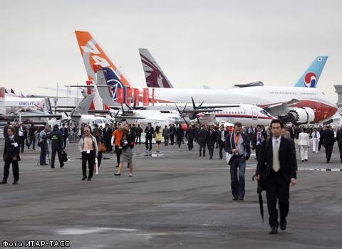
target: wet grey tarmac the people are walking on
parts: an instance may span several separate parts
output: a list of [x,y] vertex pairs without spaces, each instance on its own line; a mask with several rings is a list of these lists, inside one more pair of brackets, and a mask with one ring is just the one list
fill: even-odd
[[[0,141],[4,144],[4,141]],[[2,149],[2,148],[1,148]],[[116,172],[114,154],[92,181],[81,181],[76,144],[66,148],[69,161],[55,169],[37,165],[40,149],[21,154],[20,179],[0,185],[1,248],[342,248],[342,164],[337,144],[331,163],[324,148],[309,149],[297,184],[290,190],[286,231],[269,234],[266,193],[261,220],[257,160],[247,161],[246,196],[232,201],[229,166],[198,157],[198,145],[165,147],[160,153],[133,149],[133,177]],[[2,174],[2,172],[0,173]],[[1,176],[0,176],[1,177]]]

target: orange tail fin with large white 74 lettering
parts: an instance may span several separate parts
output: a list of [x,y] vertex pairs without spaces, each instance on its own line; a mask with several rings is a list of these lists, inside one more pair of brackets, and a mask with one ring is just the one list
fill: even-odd
[[[75,31],[75,33],[89,80],[96,83],[97,68],[94,65],[101,65],[107,71],[108,85],[113,85],[115,89],[123,88],[124,91],[125,86],[133,86],[127,76],[120,71],[118,64],[108,58],[89,32]],[[117,96],[114,95],[114,98],[116,99]]]

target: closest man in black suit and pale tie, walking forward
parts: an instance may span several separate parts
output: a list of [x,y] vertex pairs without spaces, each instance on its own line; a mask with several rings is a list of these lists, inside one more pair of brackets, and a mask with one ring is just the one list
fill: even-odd
[[259,153],[259,161],[255,178],[263,181],[266,189],[267,208],[269,210],[269,233],[278,233],[278,211],[276,201],[279,201],[280,229],[286,229],[286,217],[289,213],[290,187],[296,185],[296,151],[289,139],[281,137],[281,120],[271,121],[269,139],[264,140]]

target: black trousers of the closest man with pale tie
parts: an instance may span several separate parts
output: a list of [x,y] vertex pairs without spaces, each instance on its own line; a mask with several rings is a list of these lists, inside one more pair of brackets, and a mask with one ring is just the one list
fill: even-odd
[[286,218],[289,213],[290,184],[285,181],[281,172],[271,170],[265,182],[267,208],[269,210],[269,226],[279,226],[276,202],[279,202],[280,218]]

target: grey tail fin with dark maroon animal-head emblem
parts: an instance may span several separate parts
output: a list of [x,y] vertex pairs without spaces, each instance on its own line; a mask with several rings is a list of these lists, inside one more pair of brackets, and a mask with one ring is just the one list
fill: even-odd
[[142,68],[144,69],[147,88],[173,88],[162,68],[152,57],[147,48],[139,48]]

